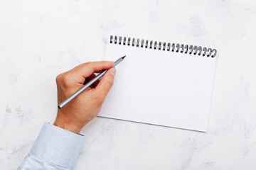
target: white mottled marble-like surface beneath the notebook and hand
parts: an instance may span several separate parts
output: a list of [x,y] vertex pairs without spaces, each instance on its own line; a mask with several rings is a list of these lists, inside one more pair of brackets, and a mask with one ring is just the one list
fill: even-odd
[[55,77],[102,60],[110,33],[218,50],[208,132],[95,118],[74,169],[256,169],[255,30],[254,0],[1,0],[0,169],[53,123]]

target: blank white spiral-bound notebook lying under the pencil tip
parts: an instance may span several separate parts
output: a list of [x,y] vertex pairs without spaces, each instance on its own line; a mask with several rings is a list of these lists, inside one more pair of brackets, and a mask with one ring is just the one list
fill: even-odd
[[104,118],[206,132],[217,50],[111,35],[105,60],[117,66]]

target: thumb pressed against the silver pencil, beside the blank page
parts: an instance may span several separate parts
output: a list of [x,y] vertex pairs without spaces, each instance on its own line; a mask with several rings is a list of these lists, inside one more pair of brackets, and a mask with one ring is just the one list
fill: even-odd
[[96,86],[96,90],[104,96],[107,96],[111,87],[114,84],[114,76],[116,74],[116,69],[113,67],[107,70],[106,74],[102,77],[99,84]]

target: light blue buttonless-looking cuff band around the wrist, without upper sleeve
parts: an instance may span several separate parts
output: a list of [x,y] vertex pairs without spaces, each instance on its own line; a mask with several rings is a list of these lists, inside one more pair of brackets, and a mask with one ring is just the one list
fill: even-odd
[[73,167],[85,137],[45,123],[30,154],[43,161],[63,167]]

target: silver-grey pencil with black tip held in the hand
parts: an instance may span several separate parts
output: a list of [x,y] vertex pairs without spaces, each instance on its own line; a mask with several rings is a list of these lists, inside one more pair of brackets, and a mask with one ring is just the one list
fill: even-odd
[[[124,56],[126,57],[126,55]],[[119,58],[117,61],[114,62],[114,66],[116,67],[117,64],[119,64],[120,62],[122,62],[122,60],[124,60],[124,57]],[[58,108],[63,108],[63,106],[65,106],[66,104],[68,104],[68,102],[72,101],[73,98],[75,98],[76,96],[78,96],[80,93],[82,93],[82,91],[84,91],[85,89],[87,89],[88,87],[90,87],[93,83],[95,83],[95,81],[97,81],[98,79],[100,79],[106,72],[108,69],[103,70],[100,74],[97,74],[97,76],[95,78],[93,78],[91,81],[89,81],[87,84],[85,84],[85,86],[82,86],[78,91],[75,92],[75,94],[71,95],[69,98],[65,99],[65,101],[63,101],[62,103],[60,103],[58,105]]]

